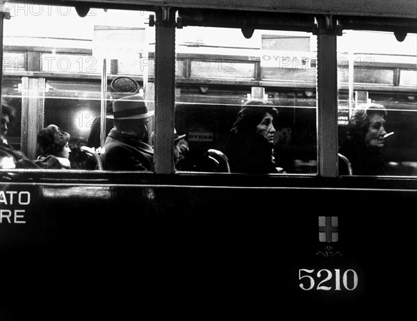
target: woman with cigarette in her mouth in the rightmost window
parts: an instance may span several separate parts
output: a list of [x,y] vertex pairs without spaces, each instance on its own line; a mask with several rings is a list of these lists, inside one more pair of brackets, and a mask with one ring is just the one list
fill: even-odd
[[386,114],[379,104],[362,104],[353,110],[339,153],[350,161],[354,175],[388,174],[384,161]]

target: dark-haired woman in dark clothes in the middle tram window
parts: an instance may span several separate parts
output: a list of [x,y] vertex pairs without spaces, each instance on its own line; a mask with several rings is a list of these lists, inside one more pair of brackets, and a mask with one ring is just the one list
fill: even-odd
[[238,112],[230,131],[224,154],[229,158],[231,172],[280,173],[275,165],[274,119],[278,110],[270,103],[247,101]]

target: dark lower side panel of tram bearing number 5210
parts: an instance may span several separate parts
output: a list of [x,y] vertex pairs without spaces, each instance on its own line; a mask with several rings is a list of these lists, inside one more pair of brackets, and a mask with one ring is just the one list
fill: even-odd
[[4,183],[1,200],[3,311],[409,308],[411,192]]

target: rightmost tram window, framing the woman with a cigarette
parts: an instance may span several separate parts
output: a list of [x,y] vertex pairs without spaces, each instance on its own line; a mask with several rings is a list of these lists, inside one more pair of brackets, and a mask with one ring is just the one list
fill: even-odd
[[[417,175],[416,48],[415,33],[402,42],[380,31],[344,31],[338,38],[338,143],[354,175]],[[360,129],[358,115],[369,106],[383,106],[386,118],[370,116],[375,127],[363,122]],[[347,174],[341,164],[339,174]]]

